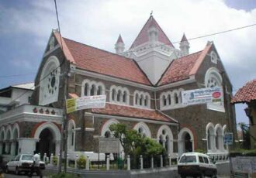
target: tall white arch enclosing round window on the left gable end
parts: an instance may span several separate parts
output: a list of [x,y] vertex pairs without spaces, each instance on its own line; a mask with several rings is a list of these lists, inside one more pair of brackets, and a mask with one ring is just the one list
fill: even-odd
[[58,100],[60,74],[60,61],[57,56],[50,56],[40,75],[40,105],[50,104]]

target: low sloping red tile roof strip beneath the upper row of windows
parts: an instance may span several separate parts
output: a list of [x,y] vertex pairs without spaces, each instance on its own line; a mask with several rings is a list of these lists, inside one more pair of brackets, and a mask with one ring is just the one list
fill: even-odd
[[102,114],[102,115],[114,115],[123,116],[129,118],[144,118],[160,122],[175,122],[172,118],[161,114],[156,110],[149,110],[143,108],[133,108],[124,105],[117,104],[106,104],[106,108],[92,109],[92,113]]

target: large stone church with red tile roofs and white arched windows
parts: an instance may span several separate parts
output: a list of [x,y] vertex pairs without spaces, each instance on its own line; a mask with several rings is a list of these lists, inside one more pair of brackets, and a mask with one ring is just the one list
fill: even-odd
[[[54,30],[36,74],[38,87],[31,104],[0,115],[5,148],[12,148],[9,142],[17,130],[18,152],[58,154],[67,91],[68,98],[106,94],[107,102],[106,108],[67,115],[70,157],[98,152],[99,138],[112,136],[109,126],[113,123],[124,123],[157,140],[173,157],[197,150],[227,155],[224,132],[236,135],[232,85],[213,42],[189,54],[184,34],[176,49],[150,16],[129,50],[121,36],[115,49],[116,53],[109,53],[61,37]],[[182,105],[182,91],[202,87],[223,87],[224,101]]]

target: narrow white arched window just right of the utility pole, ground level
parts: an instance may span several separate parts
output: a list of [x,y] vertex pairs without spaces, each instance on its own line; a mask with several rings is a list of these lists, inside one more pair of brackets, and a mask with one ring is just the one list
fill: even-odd
[[75,147],[75,122],[70,119],[67,123],[67,149],[74,151]]

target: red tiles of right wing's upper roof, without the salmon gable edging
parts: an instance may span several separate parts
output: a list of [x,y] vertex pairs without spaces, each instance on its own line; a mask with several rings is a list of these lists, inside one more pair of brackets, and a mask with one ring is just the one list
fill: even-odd
[[188,56],[183,56],[177,60],[173,60],[157,85],[169,84],[175,81],[188,79],[190,70],[194,67],[201,53],[202,51],[199,51]]

